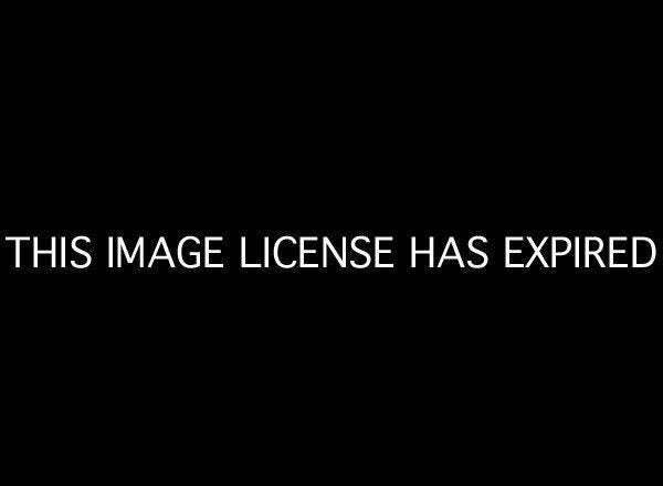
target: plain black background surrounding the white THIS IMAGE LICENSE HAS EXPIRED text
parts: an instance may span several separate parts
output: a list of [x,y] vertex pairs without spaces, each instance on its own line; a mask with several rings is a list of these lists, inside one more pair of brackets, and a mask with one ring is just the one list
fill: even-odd
[[[393,234],[399,268],[6,265],[13,456],[632,474],[656,430],[660,263],[508,272],[501,241],[660,244],[654,32],[596,12],[273,13],[33,12],[3,61],[2,235]],[[407,270],[410,235],[473,234],[486,271]]]

